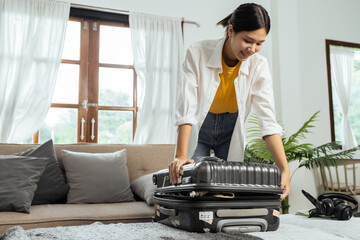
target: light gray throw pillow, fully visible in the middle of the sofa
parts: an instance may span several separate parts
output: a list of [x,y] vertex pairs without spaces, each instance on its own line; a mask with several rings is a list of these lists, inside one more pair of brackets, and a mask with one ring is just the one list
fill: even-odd
[[115,153],[62,150],[62,160],[70,186],[67,203],[134,201],[125,149]]

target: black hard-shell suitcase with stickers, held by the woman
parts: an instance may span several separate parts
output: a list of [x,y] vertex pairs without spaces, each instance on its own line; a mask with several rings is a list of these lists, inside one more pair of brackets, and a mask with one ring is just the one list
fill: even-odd
[[192,232],[275,231],[281,175],[274,165],[205,158],[183,166],[179,184],[168,170],[153,175],[155,221]]

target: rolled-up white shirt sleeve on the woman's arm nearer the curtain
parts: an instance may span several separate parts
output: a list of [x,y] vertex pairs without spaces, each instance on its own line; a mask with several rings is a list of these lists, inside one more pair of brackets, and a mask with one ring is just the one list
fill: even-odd
[[183,124],[195,125],[198,122],[196,111],[198,107],[198,76],[194,53],[191,49],[186,51],[183,63],[182,78],[178,82],[177,109],[175,126]]

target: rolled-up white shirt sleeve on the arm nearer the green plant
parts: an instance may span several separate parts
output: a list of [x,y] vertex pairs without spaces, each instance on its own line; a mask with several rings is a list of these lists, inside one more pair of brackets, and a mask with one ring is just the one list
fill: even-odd
[[251,97],[252,108],[258,117],[261,137],[272,134],[282,135],[282,127],[276,121],[273,85],[266,59],[263,59],[256,68]]

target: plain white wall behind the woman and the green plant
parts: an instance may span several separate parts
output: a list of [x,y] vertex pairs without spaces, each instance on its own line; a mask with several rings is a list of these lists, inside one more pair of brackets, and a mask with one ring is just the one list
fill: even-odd
[[[185,47],[191,43],[224,36],[216,23],[243,0],[68,0],[72,3],[149,14],[184,17],[200,28],[185,25]],[[258,0],[272,20],[270,35],[262,50],[269,59],[274,78],[278,119],[288,134],[294,133],[320,110],[319,121],[307,142],[320,145],[331,141],[325,39],[360,42],[360,1],[358,0]],[[297,162],[290,164],[291,172]],[[360,176],[359,176],[360,177]],[[317,196],[313,173],[300,169],[291,180],[290,212],[308,209],[302,196],[305,189]]]

